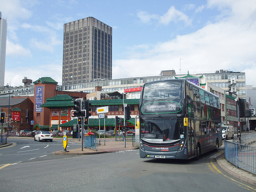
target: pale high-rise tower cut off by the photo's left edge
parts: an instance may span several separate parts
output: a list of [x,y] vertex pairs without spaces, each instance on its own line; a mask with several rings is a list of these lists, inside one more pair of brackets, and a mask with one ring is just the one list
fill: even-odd
[[4,86],[7,21],[0,12],[0,86]]

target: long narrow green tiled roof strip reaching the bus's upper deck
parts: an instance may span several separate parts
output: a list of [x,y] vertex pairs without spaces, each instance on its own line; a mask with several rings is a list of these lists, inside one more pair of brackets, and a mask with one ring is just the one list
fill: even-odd
[[[140,99],[124,99],[126,104],[139,104]],[[112,99],[112,100],[90,100],[92,105],[121,105],[123,104],[122,99]]]

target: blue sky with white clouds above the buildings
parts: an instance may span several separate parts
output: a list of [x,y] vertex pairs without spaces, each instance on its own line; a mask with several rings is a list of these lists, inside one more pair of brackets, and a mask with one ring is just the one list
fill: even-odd
[[223,69],[256,87],[255,0],[0,0],[0,11],[11,86],[62,85],[63,26],[91,16],[112,27],[112,79]]

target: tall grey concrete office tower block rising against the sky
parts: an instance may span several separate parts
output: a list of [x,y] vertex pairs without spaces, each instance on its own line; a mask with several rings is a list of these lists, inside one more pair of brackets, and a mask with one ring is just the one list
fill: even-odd
[[88,17],[64,24],[62,85],[112,79],[112,27]]

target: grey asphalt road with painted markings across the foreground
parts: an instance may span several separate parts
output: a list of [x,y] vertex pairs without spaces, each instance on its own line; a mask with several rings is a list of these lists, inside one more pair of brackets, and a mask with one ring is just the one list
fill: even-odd
[[[256,191],[255,186],[227,175],[218,167],[214,158],[223,152],[222,149],[204,154],[198,161],[141,159],[138,150],[71,157],[54,155],[44,159],[39,156],[50,154],[50,148],[55,150],[59,143],[38,143],[30,146],[32,150],[40,148],[40,151],[30,151],[38,155],[38,160],[28,160],[30,152],[26,152],[29,156],[23,155],[26,161],[12,161],[0,169],[1,192]],[[50,148],[46,147],[48,144]],[[22,148],[24,145],[14,148],[12,153],[28,150],[28,147]],[[0,154],[2,162],[8,155],[5,156],[2,149]]]

